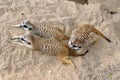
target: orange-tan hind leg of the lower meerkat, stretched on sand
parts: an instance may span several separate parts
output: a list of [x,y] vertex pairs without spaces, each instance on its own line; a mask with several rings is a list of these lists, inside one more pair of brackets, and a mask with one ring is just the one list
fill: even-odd
[[59,54],[59,55],[57,55],[57,59],[62,61],[65,64],[71,64],[73,67],[75,67],[74,63],[72,62],[72,60],[68,56]]

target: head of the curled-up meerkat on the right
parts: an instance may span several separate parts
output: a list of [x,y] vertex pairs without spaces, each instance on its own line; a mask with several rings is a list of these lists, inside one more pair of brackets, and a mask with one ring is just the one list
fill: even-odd
[[79,50],[82,47],[82,44],[79,39],[71,36],[70,40],[68,41],[68,45],[71,49]]

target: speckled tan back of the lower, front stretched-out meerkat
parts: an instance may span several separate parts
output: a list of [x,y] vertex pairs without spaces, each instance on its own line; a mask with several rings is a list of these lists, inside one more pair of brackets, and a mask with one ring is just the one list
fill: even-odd
[[38,38],[34,36],[33,41],[35,49],[40,50],[44,54],[57,55],[61,52],[68,53],[68,49],[64,44],[54,38]]

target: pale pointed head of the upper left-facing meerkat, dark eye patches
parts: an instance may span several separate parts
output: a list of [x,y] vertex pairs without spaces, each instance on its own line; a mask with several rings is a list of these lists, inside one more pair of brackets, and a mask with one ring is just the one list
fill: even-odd
[[12,25],[12,26],[23,28],[24,30],[26,30],[26,32],[31,32],[34,28],[34,25],[28,20],[21,22],[21,24]]

